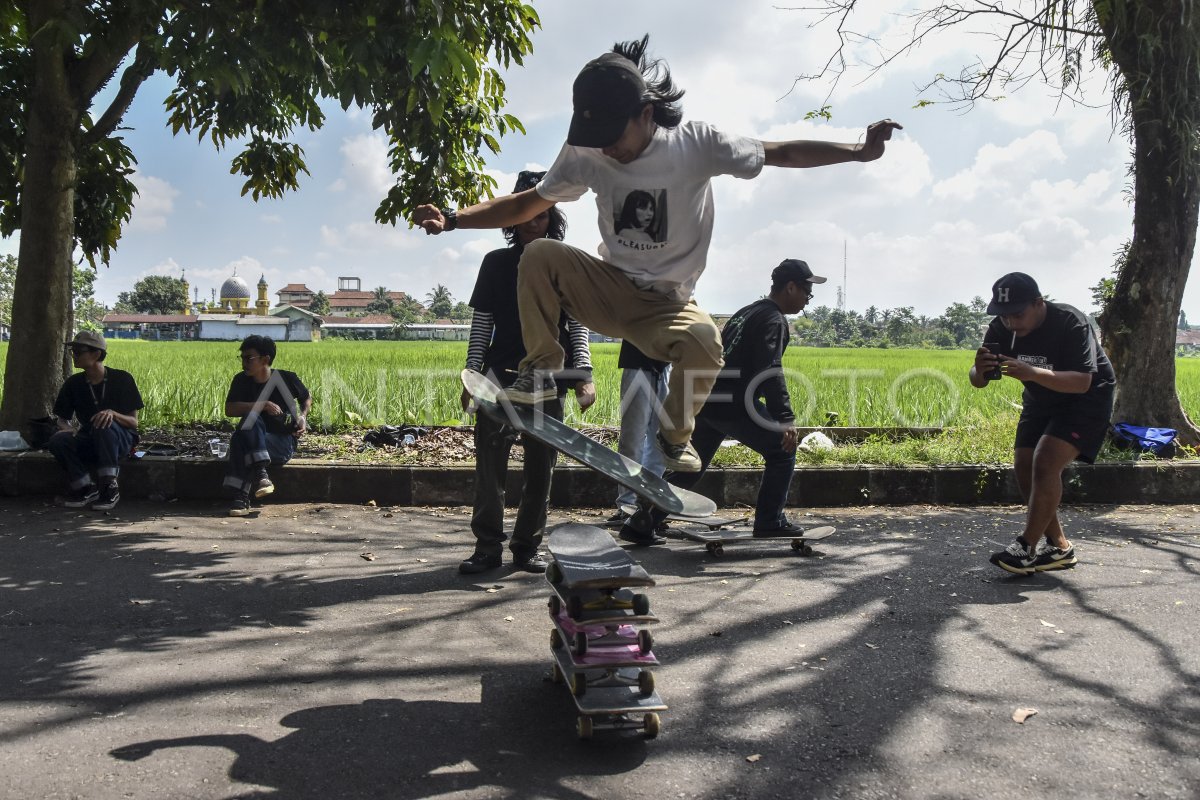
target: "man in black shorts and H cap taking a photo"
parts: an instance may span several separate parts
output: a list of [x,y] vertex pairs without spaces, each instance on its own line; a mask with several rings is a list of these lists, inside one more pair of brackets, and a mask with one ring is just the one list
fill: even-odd
[[971,385],[983,389],[1006,375],[1025,384],[1013,467],[1028,504],[1025,530],[991,563],[1018,575],[1064,570],[1076,559],[1058,522],[1062,470],[1076,459],[1096,461],[1109,429],[1116,375],[1087,317],[1043,300],[1024,272],[992,284],[988,313],[996,318],[976,350]]

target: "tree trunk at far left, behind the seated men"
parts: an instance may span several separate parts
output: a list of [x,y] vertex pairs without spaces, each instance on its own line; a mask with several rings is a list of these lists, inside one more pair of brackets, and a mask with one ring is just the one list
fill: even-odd
[[[53,50],[53,48],[52,48]],[[62,343],[71,324],[74,245],[74,110],[61,56],[35,55],[20,196],[20,248],[13,287],[12,341],[5,363],[0,429],[28,432],[50,411],[62,384]]]

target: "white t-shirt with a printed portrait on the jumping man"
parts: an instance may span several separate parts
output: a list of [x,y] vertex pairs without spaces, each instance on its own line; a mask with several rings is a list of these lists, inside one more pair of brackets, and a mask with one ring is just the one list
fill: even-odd
[[762,142],[730,136],[707,122],[658,128],[628,164],[600,150],[563,145],[538,184],[554,203],[596,194],[600,258],[643,289],[686,301],[708,258],[713,237],[715,175],[755,178],[766,155]]

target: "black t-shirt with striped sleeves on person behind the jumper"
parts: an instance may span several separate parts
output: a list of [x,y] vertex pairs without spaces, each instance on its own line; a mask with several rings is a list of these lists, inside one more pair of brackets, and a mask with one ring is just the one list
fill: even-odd
[[[517,367],[526,356],[524,339],[521,338],[521,314],[517,309],[517,265],[521,263],[520,247],[493,249],[484,257],[475,278],[475,290],[470,295],[470,307],[492,315],[492,343],[484,357],[484,372],[492,372],[505,385],[516,379]],[[566,313],[558,317],[558,342],[566,353],[565,367],[575,366],[571,338],[566,326]]]

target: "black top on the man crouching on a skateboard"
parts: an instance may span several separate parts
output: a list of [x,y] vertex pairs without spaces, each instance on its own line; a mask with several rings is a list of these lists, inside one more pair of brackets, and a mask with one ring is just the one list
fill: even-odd
[[[755,398],[762,398],[770,419],[776,422],[792,422],[792,404],[787,397],[787,384],[784,380],[784,351],[791,339],[787,317],[779,309],[774,300],[763,297],[739,309],[721,331],[725,343],[725,369],[716,379],[712,395],[718,396],[704,405],[704,414],[721,419],[744,416],[746,414],[746,392],[751,384]],[[763,372],[773,372],[768,378],[760,379]],[[720,396],[732,396],[722,401]]]

